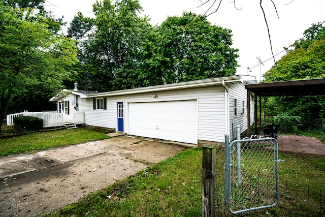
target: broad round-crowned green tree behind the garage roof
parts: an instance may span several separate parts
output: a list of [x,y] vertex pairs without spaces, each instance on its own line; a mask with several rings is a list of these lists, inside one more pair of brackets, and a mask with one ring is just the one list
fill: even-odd
[[[231,30],[211,25],[191,12],[169,17],[155,29],[143,50],[145,85],[230,76],[238,66]],[[150,82],[150,78],[155,79]]]

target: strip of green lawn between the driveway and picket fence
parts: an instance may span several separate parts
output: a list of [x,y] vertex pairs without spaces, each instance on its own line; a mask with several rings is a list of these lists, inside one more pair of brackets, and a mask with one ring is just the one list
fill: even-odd
[[22,136],[0,139],[0,156],[24,152],[31,153],[41,149],[73,145],[107,138],[109,137],[104,133],[94,131],[91,128],[28,133]]

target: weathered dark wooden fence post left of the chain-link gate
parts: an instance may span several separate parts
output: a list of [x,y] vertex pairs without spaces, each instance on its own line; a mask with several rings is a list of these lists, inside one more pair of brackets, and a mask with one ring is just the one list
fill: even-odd
[[202,217],[215,216],[216,146],[203,146],[202,154]]

